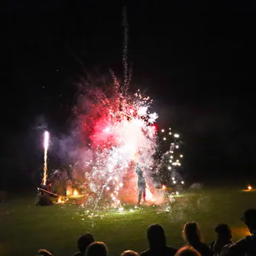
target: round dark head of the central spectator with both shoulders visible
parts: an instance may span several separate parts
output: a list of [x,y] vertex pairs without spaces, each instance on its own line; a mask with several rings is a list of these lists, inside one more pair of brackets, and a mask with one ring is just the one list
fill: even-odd
[[152,224],[147,228],[147,240],[150,248],[162,248],[166,245],[164,228],[158,224]]

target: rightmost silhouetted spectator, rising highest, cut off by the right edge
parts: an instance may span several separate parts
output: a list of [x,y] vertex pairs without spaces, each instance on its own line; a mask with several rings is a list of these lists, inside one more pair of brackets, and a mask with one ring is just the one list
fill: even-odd
[[251,235],[245,236],[233,245],[225,246],[222,256],[255,256],[256,255],[256,209],[248,209],[241,218],[248,226]]

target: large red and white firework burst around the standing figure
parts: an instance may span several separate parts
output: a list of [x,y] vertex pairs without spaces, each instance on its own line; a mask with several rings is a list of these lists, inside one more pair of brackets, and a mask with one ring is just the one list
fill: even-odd
[[[161,203],[164,196],[156,190],[154,177],[162,175],[165,157],[170,154],[172,158],[178,144],[173,148],[170,143],[167,151],[159,151],[160,136],[155,125],[158,115],[152,111],[153,100],[140,90],[128,92],[128,87],[120,86],[117,79],[113,86],[94,88],[85,95],[75,109],[79,159],[74,159],[73,165],[73,178],[80,180],[83,185],[79,191],[86,194],[84,204],[109,209],[121,207],[123,202],[135,203],[136,164],[144,169],[147,202]],[[180,165],[179,160],[172,166],[175,163]],[[171,178],[173,170],[168,167],[166,173]]]

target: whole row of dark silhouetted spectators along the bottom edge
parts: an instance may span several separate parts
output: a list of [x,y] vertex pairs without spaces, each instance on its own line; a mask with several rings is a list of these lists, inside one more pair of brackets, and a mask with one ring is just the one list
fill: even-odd
[[[246,210],[241,220],[251,235],[233,242],[231,228],[227,224],[219,224],[215,227],[216,238],[209,245],[202,241],[196,222],[188,222],[182,231],[186,245],[179,249],[167,246],[164,228],[152,224],[147,228],[149,248],[141,253],[123,251],[121,256],[256,256],[256,209]],[[77,241],[77,248],[79,251],[73,256],[108,256],[106,245],[95,241],[91,234],[82,235]],[[40,250],[37,255],[53,256],[47,250]]]

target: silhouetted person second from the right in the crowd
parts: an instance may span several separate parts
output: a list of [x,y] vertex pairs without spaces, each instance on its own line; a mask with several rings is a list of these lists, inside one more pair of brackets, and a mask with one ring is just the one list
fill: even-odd
[[215,233],[217,238],[211,242],[209,248],[219,255],[225,245],[232,245],[232,232],[228,225],[219,224],[215,227]]

